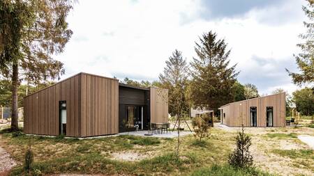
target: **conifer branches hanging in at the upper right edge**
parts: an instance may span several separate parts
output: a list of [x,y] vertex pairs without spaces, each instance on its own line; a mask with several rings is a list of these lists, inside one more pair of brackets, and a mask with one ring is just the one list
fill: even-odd
[[303,6],[302,9],[308,17],[310,22],[304,22],[304,26],[307,28],[307,32],[299,35],[299,37],[305,40],[304,43],[300,43],[297,46],[301,48],[302,53],[294,55],[296,58],[297,66],[300,73],[294,73],[287,70],[292,80],[297,85],[301,86],[302,83],[314,82],[314,1],[307,0],[308,5]]

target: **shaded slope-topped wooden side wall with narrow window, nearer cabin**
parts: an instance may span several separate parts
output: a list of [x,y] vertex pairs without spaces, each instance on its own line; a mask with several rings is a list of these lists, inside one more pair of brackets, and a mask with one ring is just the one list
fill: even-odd
[[81,74],[24,97],[24,132],[59,135],[59,101],[66,101],[66,136],[80,136]]

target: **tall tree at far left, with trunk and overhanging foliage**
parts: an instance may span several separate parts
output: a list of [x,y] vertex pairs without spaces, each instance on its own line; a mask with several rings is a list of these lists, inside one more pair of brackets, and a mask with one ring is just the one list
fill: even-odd
[[0,1],[0,74],[11,78],[11,129],[18,129],[17,90],[21,80],[59,79],[63,63],[52,55],[63,51],[72,35],[66,16],[70,0]]

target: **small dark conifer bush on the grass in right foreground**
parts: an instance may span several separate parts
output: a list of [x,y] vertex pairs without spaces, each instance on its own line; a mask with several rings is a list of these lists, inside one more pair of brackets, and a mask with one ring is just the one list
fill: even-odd
[[229,155],[228,163],[234,168],[251,168],[253,157],[250,152],[251,137],[244,133],[244,127],[236,136],[237,147]]

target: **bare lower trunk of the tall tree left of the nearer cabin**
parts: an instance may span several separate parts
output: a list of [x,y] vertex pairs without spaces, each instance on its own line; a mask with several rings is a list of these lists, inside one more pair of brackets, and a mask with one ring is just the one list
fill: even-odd
[[19,129],[19,120],[17,114],[17,87],[19,83],[19,70],[17,63],[12,65],[12,108],[11,108],[11,130]]

